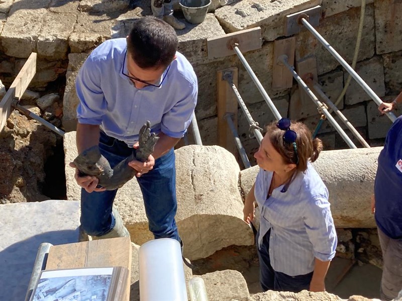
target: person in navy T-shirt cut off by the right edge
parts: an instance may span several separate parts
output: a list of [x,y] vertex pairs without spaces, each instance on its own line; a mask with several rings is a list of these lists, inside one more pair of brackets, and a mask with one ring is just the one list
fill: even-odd
[[378,156],[371,210],[383,259],[380,295],[391,300],[402,295],[402,116],[392,123]]

